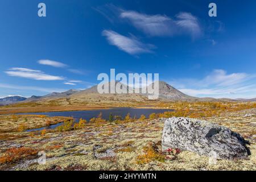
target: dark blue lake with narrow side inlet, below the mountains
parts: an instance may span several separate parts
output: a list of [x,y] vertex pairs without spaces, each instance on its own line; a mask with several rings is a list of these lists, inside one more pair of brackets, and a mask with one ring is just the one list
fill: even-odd
[[[89,121],[93,117],[97,117],[100,113],[102,113],[102,118],[109,119],[110,113],[114,115],[121,115],[121,117],[125,118],[125,116],[130,113],[131,118],[141,117],[144,114],[147,118],[151,113],[163,113],[165,111],[173,111],[171,109],[135,109],[131,107],[118,107],[113,109],[101,109],[101,110],[83,110],[83,111],[61,111],[61,112],[46,112],[46,113],[22,113],[22,115],[26,114],[38,114],[38,115],[48,115],[50,117],[55,116],[63,116],[63,117],[73,117],[75,122],[78,122],[80,118],[86,119]],[[57,123],[56,125],[51,125],[47,127],[42,127],[39,129],[31,129],[29,131],[39,131],[43,129],[55,129],[57,126],[63,125],[63,123]]]

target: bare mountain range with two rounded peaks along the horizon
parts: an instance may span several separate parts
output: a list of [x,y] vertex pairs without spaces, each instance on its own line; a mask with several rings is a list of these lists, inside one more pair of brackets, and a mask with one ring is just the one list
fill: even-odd
[[[152,88],[154,88],[154,84],[151,84]],[[110,82],[109,82],[110,85]],[[133,88],[130,88],[129,86],[122,84],[121,82],[115,82],[115,86],[118,86],[119,88],[123,88],[123,86],[126,86],[127,88],[127,94],[120,94],[121,96],[118,97],[119,94],[100,94],[97,91],[97,85],[92,86],[89,89],[85,90],[76,90],[76,89],[70,89],[66,92],[53,92],[50,94],[47,94],[46,96],[32,96],[29,98],[22,97],[22,96],[9,96],[5,98],[0,98],[0,105],[10,105],[15,104],[17,102],[43,102],[43,101],[54,101],[54,100],[113,100],[113,99],[121,99],[121,101],[127,101],[127,100],[133,100],[133,101],[141,101],[141,100],[147,100],[147,93],[146,94],[135,94],[131,93],[129,94],[129,90],[133,90]],[[110,90],[110,87],[109,87]],[[104,95],[105,97],[102,97]],[[108,95],[109,97],[106,97]],[[236,100],[228,99],[228,98],[222,98],[222,99],[214,99],[214,98],[198,98],[198,97],[192,97],[188,96],[187,94],[184,94],[180,92],[179,90],[175,89],[173,86],[167,84],[166,82],[159,81],[159,100],[166,100],[166,101],[239,101],[239,102],[249,102],[249,101],[256,101],[256,98],[253,99],[243,99],[239,98]]]

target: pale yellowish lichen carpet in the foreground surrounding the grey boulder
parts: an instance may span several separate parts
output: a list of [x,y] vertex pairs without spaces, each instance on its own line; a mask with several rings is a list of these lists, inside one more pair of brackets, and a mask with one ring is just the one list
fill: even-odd
[[[247,113],[249,115],[245,116]],[[252,114],[251,114],[252,113]],[[24,158],[14,163],[0,164],[1,169],[11,170],[256,170],[256,110],[228,113],[206,118],[240,133],[249,140],[251,155],[247,160],[217,160],[193,152],[181,151],[174,160],[152,159],[138,164],[138,156],[150,142],[159,143],[164,123],[135,121],[102,126],[87,125],[84,129],[57,132],[48,131],[44,136],[35,134],[13,140],[0,141],[0,156],[11,147],[34,148],[45,151],[46,164],[38,164],[38,156]]]

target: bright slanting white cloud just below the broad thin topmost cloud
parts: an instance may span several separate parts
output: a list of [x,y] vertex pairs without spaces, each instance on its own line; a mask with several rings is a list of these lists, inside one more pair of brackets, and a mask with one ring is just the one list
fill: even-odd
[[144,44],[140,42],[134,36],[129,38],[111,30],[102,31],[102,35],[106,36],[109,44],[117,46],[120,50],[131,55],[137,55],[139,53],[151,53],[151,49],[155,48],[152,44]]

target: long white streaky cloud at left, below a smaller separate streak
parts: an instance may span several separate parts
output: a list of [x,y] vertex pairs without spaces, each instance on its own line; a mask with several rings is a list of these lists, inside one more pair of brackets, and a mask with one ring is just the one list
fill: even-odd
[[47,75],[42,71],[28,68],[10,68],[5,73],[9,76],[30,78],[32,80],[64,80],[63,77]]

